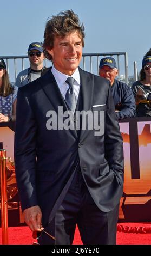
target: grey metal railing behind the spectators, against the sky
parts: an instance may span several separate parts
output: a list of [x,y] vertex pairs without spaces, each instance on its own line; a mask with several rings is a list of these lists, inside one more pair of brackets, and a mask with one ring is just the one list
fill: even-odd
[[[80,66],[84,70],[92,72],[98,75],[100,59],[106,56],[114,57],[117,63],[117,68],[119,69],[119,77],[121,69],[125,76],[125,82],[128,83],[128,56],[127,52],[103,52],[103,53],[83,53]],[[121,56],[124,57],[124,60],[121,60]],[[16,80],[17,74],[25,68],[29,67],[28,56],[0,56],[6,61],[6,68],[8,70],[10,80]],[[12,63],[10,64],[10,61]],[[82,66],[83,64],[83,66]],[[44,60],[45,66],[51,66],[51,62]],[[10,68],[11,66],[11,68]]]

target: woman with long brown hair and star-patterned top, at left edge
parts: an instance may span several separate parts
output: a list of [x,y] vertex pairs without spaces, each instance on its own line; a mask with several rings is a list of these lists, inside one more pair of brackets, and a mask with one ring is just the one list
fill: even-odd
[[11,86],[6,64],[0,58],[0,122],[16,120],[17,90]]

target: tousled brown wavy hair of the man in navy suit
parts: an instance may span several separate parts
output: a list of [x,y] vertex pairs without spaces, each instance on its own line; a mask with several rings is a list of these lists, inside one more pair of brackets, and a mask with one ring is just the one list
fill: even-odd
[[52,49],[54,46],[54,38],[64,38],[71,32],[77,31],[84,47],[84,26],[80,23],[77,14],[73,10],[61,11],[56,16],[52,16],[47,21],[44,31],[43,51],[45,58],[52,60],[52,56],[47,49]]

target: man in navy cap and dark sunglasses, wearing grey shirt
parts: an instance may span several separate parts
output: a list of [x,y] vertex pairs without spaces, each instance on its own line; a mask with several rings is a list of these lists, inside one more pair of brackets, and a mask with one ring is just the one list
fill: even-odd
[[43,66],[44,54],[41,42],[31,42],[28,47],[28,58],[30,68],[19,72],[15,82],[18,88],[36,80],[43,74],[45,67]]

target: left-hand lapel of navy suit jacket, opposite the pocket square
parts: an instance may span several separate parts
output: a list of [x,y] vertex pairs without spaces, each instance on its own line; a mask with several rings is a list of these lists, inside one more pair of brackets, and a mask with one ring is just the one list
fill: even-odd
[[[44,90],[44,93],[49,98],[52,106],[54,107],[57,115],[58,115],[59,106],[63,107],[63,113],[64,111],[68,111],[67,105],[65,104],[64,98],[60,92],[60,89],[58,88],[55,77],[51,73],[51,69],[49,69],[47,73],[44,76],[42,76],[41,86],[42,86],[42,89]],[[77,138],[77,132],[75,130],[69,130],[69,131],[71,131],[74,137]]]

